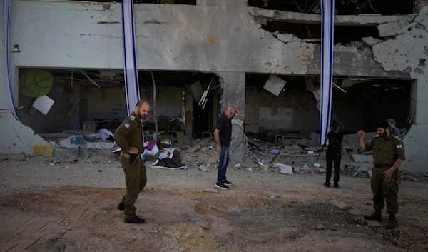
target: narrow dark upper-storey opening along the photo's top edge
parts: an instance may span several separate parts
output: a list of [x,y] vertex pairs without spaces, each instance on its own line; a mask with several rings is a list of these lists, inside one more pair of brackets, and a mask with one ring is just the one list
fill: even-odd
[[[273,9],[278,11],[292,11],[311,14],[320,14],[320,0],[248,0],[248,6]],[[337,0],[335,1],[337,15],[358,14],[412,14],[413,1],[403,0]]]

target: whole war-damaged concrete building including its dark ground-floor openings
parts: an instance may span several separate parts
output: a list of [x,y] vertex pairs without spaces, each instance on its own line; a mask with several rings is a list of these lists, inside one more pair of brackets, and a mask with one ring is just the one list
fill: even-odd
[[[134,3],[141,98],[156,101],[148,138],[155,121],[159,134],[176,139],[212,136],[228,104],[242,111],[233,119],[235,161],[250,138],[275,142],[320,130],[320,1]],[[332,114],[350,134],[396,119],[403,168],[426,171],[428,1],[343,0],[335,14]],[[0,79],[1,153],[113,147],[70,136],[113,131],[127,115],[121,22],[114,1],[11,1],[9,47],[3,39],[0,50],[9,56],[19,120]],[[28,88],[34,79],[43,80],[38,94]]]

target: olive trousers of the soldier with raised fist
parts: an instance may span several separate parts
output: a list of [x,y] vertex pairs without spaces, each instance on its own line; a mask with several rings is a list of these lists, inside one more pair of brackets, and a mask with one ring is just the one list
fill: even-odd
[[387,213],[398,213],[398,183],[395,179],[395,173],[392,178],[384,178],[384,172],[389,168],[372,169],[372,192],[373,192],[373,207],[374,209],[383,209],[384,201],[387,201]]

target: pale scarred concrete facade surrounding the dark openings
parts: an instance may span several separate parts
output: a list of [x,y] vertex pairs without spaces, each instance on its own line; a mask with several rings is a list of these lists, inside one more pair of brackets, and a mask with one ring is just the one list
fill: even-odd
[[[272,22],[284,26],[320,25],[319,14],[260,9],[248,6],[245,0],[197,1],[196,5],[135,4],[134,9],[138,69],[213,73],[221,86],[220,109],[236,104],[243,111],[233,119],[232,156],[236,161],[247,153],[244,132],[252,131],[251,121],[255,124],[260,121],[254,115],[260,114],[258,104],[262,102],[263,92],[248,86],[250,76],[275,74],[316,79],[320,75],[320,44],[316,40],[266,29],[266,24]],[[19,101],[19,69],[123,69],[121,20],[121,4],[114,2],[13,1],[9,43],[19,45],[20,50],[10,54],[14,100]],[[335,25],[377,27],[381,39],[367,42],[370,46],[335,45],[334,76],[409,82],[409,106],[404,109],[408,111],[407,121],[411,126],[404,138],[407,161],[403,167],[426,171],[427,1],[415,1],[414,14],[409,15],[338,14]],[[3,39],[0,52],[4,58]],[[0,71],[1,76],[5,76],[4,60],[0,61]],[[30,127],[14,119],[6,85],[6,79],[0,79],[0,151],[32,153],[35,144],[47,143]],[[78,92],[84,96],[83,93]],[[250,101],[246,97],[249,94],[260,97]],[[353,129],[357,130],[364,125],[357,121],[361,114],[350,116],[355,113],[352,107],[356,106],[350,102],[340,101],[340,106],[336,106],[333,101],[333,114],[335,111],[342,114],[347,118],[347,125],[355,124]],[[269,104],[263,107],[269,108]],[[313,108],[315,112],[307,112],[308,120],[312,120],[307,124],[315,122],[315,126],[306,128],[312,131],[317,129],[319,120],[316,102]],[[347,108],[351,111],[347,112]]]

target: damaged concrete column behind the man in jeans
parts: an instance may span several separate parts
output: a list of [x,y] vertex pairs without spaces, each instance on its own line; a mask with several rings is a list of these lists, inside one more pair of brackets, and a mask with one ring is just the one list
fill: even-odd
[[248,153],[247,136],[244,133],[245,73],[218,72],[218,75],[223,89],[221,110],[225,111],[229,104],[234,104],[240,109],[240,114],[232,120],[232,143],[230,144],[230,159],[238,163]]

